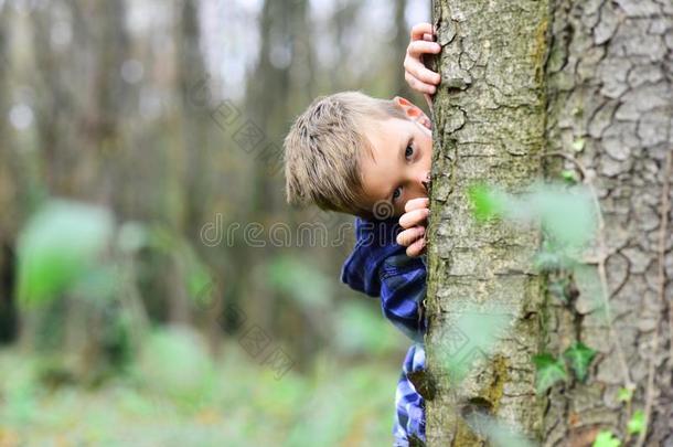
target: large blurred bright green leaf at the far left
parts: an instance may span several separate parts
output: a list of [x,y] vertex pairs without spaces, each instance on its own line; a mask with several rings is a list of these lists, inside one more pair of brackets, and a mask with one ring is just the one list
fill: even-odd
[[111,214],[93,205],[47,202],[19,236],[19,299],[41,305],[95,268],[113,233]]

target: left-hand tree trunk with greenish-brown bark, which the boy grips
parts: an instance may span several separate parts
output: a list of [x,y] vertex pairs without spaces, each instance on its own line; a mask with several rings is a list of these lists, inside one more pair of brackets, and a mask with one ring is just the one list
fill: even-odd
[[[480,445],[461,415],[474,405],[523,432],[541,430],[531,355],[541,339],[542,281],[528,272],[540,235],[471,217],[468,188],[489,180],[516,191],[542,173],[546,1],[437,1],[434,21],[442,84],[435,98],[432,214],[428,268],[428,370],[437,392],[427,403],[428,444]],[[487,362],[452,386],[441,365],[460,340],[445,334],[470,305],[500,305],[514,322]]]

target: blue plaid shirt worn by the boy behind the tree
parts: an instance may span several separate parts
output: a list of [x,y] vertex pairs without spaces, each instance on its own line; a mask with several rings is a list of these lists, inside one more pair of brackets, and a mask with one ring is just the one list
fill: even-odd
[[402,231],[396,217],[385,221],[355,219],[355,247],[341,269],[341,280],[370,297],[381,297],[384,316],[414,344],[403,363],[395,393],[395,446],[408,446],[413,437],[425,441],[425,403],[407,374],[425,369],[426,321],[425,255],[412,258],[395,237]]

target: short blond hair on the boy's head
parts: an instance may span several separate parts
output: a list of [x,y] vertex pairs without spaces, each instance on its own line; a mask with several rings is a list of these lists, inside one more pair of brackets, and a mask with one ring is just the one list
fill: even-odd
[[372,157],[365,124],[400,118],[406,114],[393,99],[360,92],[318,97],[301,114],[285,139],[287,202],[314,203],[322,210],[372,217],[362,205],[361,163]]

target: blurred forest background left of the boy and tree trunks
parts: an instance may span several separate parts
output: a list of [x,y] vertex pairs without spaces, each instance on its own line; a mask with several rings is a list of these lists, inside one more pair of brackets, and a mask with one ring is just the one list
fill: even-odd
[[0,0],[0,446],[392,443],[408,341],[280,156],[318,95],[424,103],[402,62],[428,14]]

